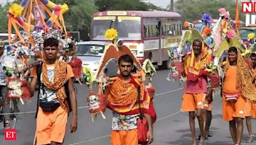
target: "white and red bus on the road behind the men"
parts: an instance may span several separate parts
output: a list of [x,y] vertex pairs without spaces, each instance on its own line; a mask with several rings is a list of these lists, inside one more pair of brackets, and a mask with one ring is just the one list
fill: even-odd
[[118,31],[136,57],[143,62],[170,67],[167,51],[179,45],[182,35],[181,17],[171,11],[102,11],[93,15],[90,40],[107,41],[104,33],[109,28]]

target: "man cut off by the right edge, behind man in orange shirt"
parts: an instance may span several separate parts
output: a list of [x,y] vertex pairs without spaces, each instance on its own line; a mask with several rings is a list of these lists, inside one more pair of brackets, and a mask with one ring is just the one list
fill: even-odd
[[[252,60],[252,69],[250,70],[251,74],[252,74],[252,83],[253,83],[253,88],[254,91],[256,91],[256,53],[252,53],[250,56],[251,60]],[[246,100],[246,104],[245,104],[245,118],[246,118],[246,127],[248,129],[248,139],[246,140],[246,142],[253,142],[253,133],[252,133],[252,121],[251,118],[256,118],[256,104],[254,104],[251,100]]]

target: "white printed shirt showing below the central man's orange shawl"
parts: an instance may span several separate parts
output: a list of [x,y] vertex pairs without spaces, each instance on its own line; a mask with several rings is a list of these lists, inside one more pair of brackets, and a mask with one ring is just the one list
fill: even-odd
[[131,130],[137,127],[139,114],[122,115],[113,111],[112,130]]

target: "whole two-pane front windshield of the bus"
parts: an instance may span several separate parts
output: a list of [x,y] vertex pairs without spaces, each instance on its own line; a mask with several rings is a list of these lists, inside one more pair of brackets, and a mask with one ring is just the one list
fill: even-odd
[[[104,38],[105,32],[109,28],[117,27],[118,38],[123,40],[141,40],[141,18],[140,17],[117,17],[117,25],[115,22],[115,17],[111,17],[109,20],[105,17],[105,20],[100,20],[97,17],[93,18],[93,28],[92,28],[92,39],[93,40],[106,40]],[[108,19],[108,20],[106,20]]]

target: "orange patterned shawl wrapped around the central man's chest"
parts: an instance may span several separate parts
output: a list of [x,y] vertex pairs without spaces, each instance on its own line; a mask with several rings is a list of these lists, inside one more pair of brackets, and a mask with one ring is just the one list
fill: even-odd
[[[148,109],[150,103],[150,96],[145,91],[143,82],[134,76],[131,76],[131,81],[125,83],[120,76],[116,81],[108,86],[106,93],[109,102],[109,107],[120,114],[131,113],[138,110],[138,91],[140,87],[140,106],[143,109]],[[137,111],[138,112],[138,111]]]

